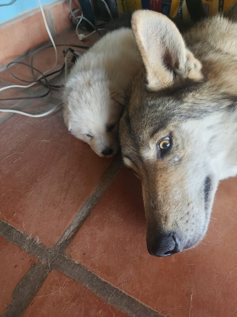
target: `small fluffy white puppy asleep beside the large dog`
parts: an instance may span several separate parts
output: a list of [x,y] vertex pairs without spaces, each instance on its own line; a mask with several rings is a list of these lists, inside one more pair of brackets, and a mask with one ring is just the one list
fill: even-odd
[[131,29],[103,36],[71,69],[64,89],[68,130],[101,157],[118,150],[125,91],[142,65]]

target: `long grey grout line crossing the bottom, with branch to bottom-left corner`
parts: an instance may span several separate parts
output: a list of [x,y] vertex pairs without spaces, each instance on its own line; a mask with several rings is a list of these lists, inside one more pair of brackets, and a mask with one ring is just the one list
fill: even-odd
[[43,244],[35,243],[32,238],[2,220],[0,220],[0,235],[6,241],[15,243],[22,249],[27,245],[27,252],[42,262],[33,265],[15,287],[13,301],[3,314],[4,317],[18,317],[22,314],[30,304],[32,297],[40,289],[51,269],[58,270],[81,283],[94,294],[104,299],[109,305],[131,317],[162,317],[161,314],[109,282],[102,280],[98,275],[84,268],[81,264],[76,264],[66,258],[58,250],[48,249]]

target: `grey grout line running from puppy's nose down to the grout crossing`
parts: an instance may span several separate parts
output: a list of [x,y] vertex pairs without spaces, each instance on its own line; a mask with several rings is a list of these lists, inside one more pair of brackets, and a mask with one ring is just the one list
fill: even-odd
[[99,201],[100,197],[106,191],[113,177],[116,175],[121,167],[122,165],[119,157],[109,166],[109,168],[95,187],[94,191],[90,194],[82,208],[78,211],[78,213],[76,214],[70,225],[67,227],[67,229],[64,231],[63,235],[59,238],[53,249],[60,250],[60,252],[65,251],[65,249],[73,239],[74,235],[76,234],[77,230],[81,227],[82,223],[88,217],[94,205]]

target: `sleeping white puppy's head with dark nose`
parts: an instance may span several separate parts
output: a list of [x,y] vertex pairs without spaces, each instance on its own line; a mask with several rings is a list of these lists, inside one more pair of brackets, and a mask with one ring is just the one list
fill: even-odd
[[76,138],[101,157],[118,151],[119,119],[125,94],[106,79],[103,70],[80,72],[65,85],[64,121]]

